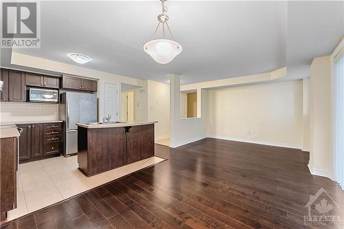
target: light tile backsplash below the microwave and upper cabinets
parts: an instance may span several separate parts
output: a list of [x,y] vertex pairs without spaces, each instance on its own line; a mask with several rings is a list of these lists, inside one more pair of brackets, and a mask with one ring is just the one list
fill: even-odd
[[0,102],[0,122],[58,120],[57,104]]

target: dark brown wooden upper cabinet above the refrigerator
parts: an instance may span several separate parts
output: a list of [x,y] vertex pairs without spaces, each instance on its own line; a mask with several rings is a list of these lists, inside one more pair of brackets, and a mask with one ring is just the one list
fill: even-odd
[[97,81],[73,76],[63,76],[61,88],[81,91],[97,91]]

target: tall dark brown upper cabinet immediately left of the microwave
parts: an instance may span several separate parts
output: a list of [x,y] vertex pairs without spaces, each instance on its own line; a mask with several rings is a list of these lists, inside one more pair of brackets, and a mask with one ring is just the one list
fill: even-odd
[[8,72],[8,101],[25,102],[25,73],[9,70]]

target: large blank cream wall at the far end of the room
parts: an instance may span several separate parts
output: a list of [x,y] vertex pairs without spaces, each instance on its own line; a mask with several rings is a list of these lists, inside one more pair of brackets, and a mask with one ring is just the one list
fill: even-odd
[[208,91],[208,135],[301,148],[302,80]]

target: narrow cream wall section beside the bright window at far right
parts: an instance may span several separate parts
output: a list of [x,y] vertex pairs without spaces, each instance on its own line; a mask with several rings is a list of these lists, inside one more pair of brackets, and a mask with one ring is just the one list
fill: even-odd
[[332,178],[330,56],[310,65],[310,171]]

